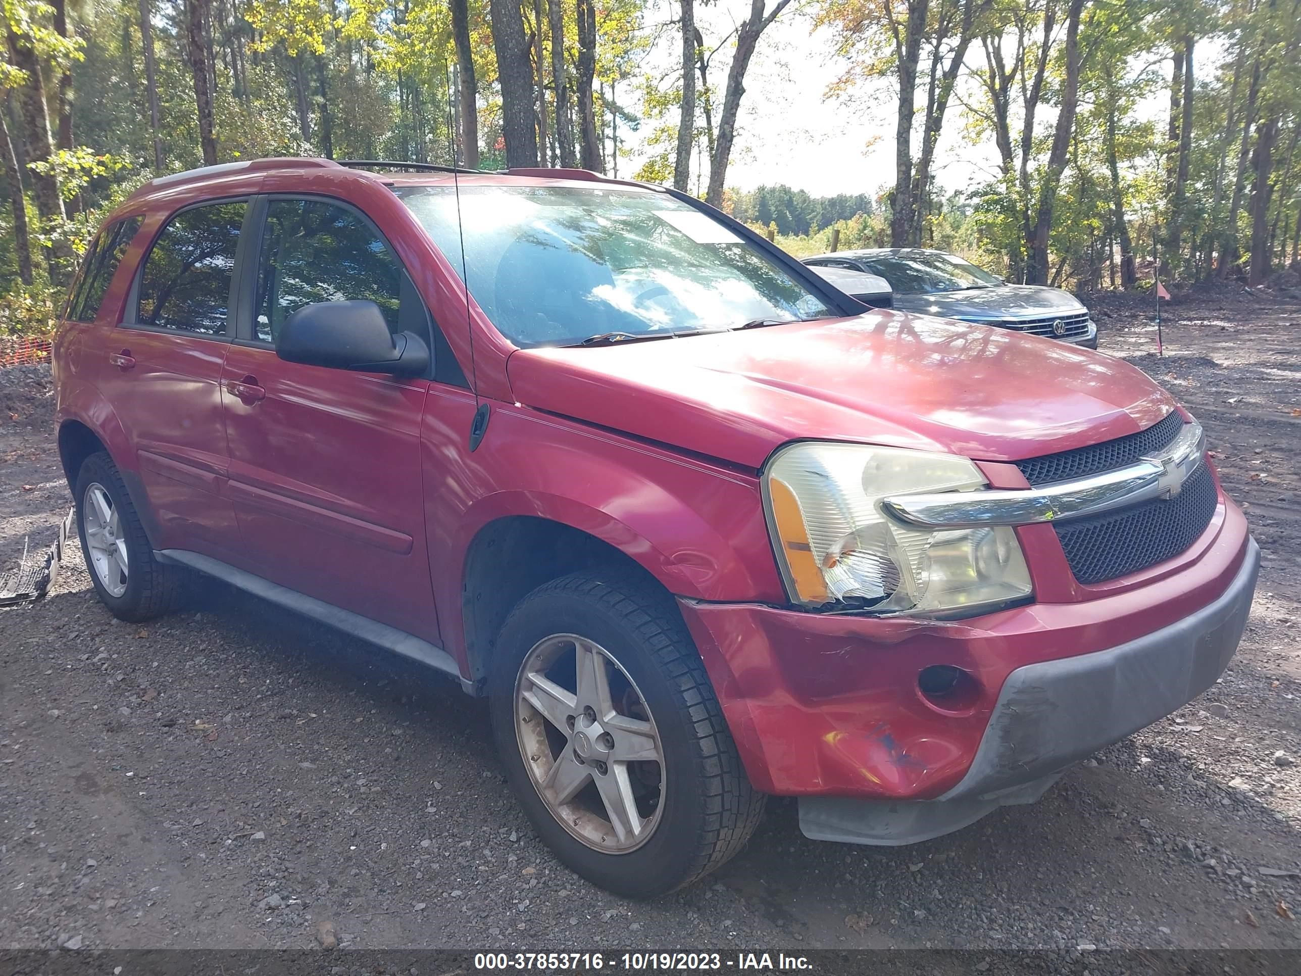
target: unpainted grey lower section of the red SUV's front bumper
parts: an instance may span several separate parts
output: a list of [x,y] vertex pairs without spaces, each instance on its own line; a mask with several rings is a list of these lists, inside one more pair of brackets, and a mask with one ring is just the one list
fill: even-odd
[[1106,651],[1041,661],[1007,675],[967,774],[934,800],[801,796],[800,830],[816,841],[904,845],[1033,803],[1062,772],[1206,691],[1246,626],[1261,550],[1215,601]]

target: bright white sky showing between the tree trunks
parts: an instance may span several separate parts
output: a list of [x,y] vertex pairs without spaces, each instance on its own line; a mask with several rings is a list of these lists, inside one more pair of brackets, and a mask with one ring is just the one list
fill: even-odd
[[[773,0],[768,0],[771,7]],[[660,22],[671,20],[677,4],[652,10]],[[748,0],[719,0],[696,7],[706,46],[718,43],[732,23],[749,13]],[[1203,48],[1205,51],[1205,48]],[[680,47],[675,29],[661,35],[661,43],[647,59],[647,69],[667,72]],[[726,61],[721,53],[712,74],[722,88]],[[739,131],[727,168],[727,185],[740,190],[786,183],[814,197],[878,193],[894,185],[894,130],[896,88],[891,79],[863,81],[852,103],[827,98],[827,86],[844,72],[844,61],[834,53],[830,31],[816,30],[812,17],[786,10],[758,42],[745,81]],[[1203,69],[1205,70],[1205,69]],[[945,126],[935,151],[935,180],[947,191],[965,190],[993,177],[998,150],[993,139],[976,139],[965,131],[960,98],[974,95],[972,83],[959,83],[948,104]],[[920,94],[919,94],[920,95]],[[721,103],[721,96],[719,96]],[[1164,95],[1142,103],[1138,115],[1164,118]],[[1038,130],[1049,131],[1055,112],[1041,109]],[[634,173],[645,157],[639,134],[623,134],[632,151],[631,164],[619,160],[621,173]],[[913,152],[917,133],[913,133]],[[706,164],[708,165],[708,164]],[[626,168],[626,169],[624,169]],[[704,181],[704,177],[701,177]],[[695,176],[692,176],[695,189]]]

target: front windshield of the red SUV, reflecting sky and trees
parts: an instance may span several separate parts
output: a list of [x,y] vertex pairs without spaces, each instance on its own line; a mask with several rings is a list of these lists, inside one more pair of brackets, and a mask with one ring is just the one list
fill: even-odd
[[729,228],[665,194],[609,187],[451,186],[397,194],[522,347],[609,333],[669,336],[834,315]]

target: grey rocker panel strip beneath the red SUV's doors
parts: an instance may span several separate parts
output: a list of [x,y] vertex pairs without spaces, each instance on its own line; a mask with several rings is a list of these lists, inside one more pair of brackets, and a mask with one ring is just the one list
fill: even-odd
[[215,576],[237,590],[243,590],[246,593],[252,593],[263,600],[284,606],[286,610],[301,613],[303,617],[310,617],[345,634],[360,638],[368,644],[375,644],[403,657],[410,657],[428,668],[451,675],[461,682],[461,687],[464,691],[471,695],[476,694],[474,682],[461,677],[461,668],[451,655],[441,647],[431,644],[428,640],[423,640],[414,634],[407,634],[405,630],[390,627],[388,623],[372,621],[369,617],[363,617],[359,613],[345,610],[341,606],[317,600],[314,596],[299,593],[297,590],[272,583],[269,579],[255,576],[252,573],[245,573],[242,569],[235,569],[226,562],[221,562],[221,560],[213,560],[211,556],[189,552],[187,549],[156,549],[154,558],[159,562],[187,566],[204,575]]

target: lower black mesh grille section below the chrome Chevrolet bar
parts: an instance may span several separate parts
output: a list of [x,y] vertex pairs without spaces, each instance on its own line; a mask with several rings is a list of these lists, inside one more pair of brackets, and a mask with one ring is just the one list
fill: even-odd
[[1153,498],[1055,528],[1075,578],[1086,586],[1103,583],[1179,556],[1206,531],[1216,501],[1215,479],[1202,463],[1172,498]]

